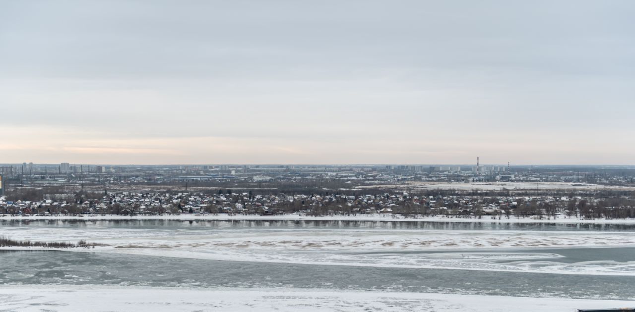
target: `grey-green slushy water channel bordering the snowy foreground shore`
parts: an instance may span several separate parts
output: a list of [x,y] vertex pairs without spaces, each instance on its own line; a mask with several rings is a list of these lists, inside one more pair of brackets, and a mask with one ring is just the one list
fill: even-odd
[[[519,250],[520,251],[520,250]],[[576,260],[589,249],[570,249]],[[604,258],[635,249],[605,249]],[[104,252],[0,251],[0,283],[152,287],[295,287],[497,296],[635,298],[635,276],[217,261]],[[566,259],[566,258],[565,258]]]

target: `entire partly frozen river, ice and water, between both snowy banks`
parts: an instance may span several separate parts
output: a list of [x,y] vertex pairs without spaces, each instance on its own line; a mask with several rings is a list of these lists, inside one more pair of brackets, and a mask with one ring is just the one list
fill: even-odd
[[633,224],[4,220],[0,235],[105,244],[0,250],[0,286],[635,299]]

